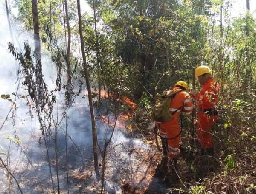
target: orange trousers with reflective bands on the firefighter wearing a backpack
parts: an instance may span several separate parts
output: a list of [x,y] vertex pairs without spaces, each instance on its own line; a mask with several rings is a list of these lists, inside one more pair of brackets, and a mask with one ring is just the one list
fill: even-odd
[[[174,138],[180,133],[180,125],[177,121],[163,122],[160,131],[166,132],[167,138]],[[180,154],[180,135],[175,139],[168,139],[168,156],[177,159]]]

